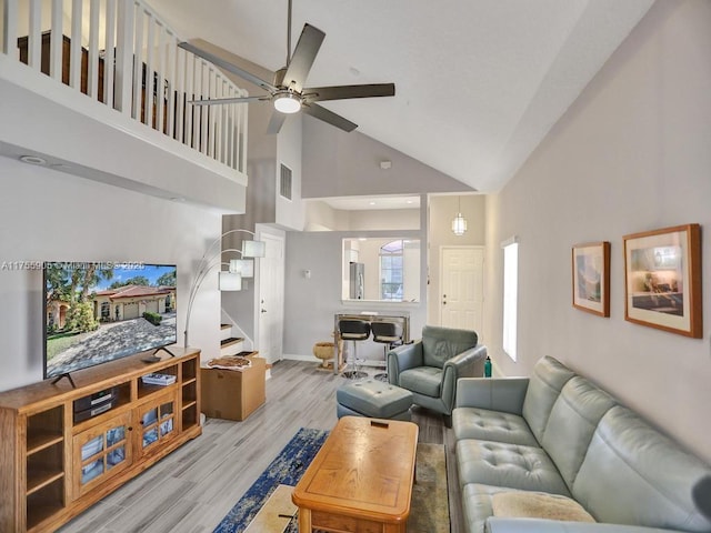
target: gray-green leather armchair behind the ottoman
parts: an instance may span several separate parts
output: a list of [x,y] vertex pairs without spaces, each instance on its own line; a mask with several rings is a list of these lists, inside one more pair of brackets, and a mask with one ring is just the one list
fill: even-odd
[[444,415],[450,425],[457,380],[484,374],[487,346],[474,331],[425,325],[422,339],[388,352],[388,381],[412,392],[413,403]]

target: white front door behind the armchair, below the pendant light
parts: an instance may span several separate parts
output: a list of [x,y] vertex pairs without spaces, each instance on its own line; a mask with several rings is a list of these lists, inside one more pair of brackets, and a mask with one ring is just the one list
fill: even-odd
[[481,335],[483,321],[482,247],[440,249],[440,324],[474,330]]

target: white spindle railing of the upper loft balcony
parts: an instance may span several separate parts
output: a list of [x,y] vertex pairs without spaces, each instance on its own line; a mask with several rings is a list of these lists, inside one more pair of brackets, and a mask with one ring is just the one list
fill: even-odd
[[247,91],[179,41],[140,0],[0,0],[0,52],[246,172],[247,105],[188,102]]

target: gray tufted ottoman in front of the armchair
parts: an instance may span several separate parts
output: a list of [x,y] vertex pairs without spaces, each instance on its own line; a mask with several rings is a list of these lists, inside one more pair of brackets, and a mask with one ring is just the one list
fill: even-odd
[[410,420],[412,393],[382,381],[347,383],[336,391],[338,418],[346,415],[373,419]]

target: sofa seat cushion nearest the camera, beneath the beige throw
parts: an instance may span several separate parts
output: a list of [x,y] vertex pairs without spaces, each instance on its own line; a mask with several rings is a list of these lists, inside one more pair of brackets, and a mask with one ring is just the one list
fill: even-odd
[[[533,496],[539,501],[548,497],[557,497],[560,499],[559,502],[567,502],[565,506],[569,506],[570,510],[575,509],[575,515],[583,517],[588,516],[585,520],[594,521],[594,517],[591,516],[587,511],[580,506],[574,500],[568,496],[553,496],[551,494],[545,494],[538,491],[512,491],[511,489],[507,489],[503,486],[493,486],[485,485],[481,483],[468,483],[462,487],[462,513],[464,517],[464,526],[468,533],[484,533],[487,521],[489,519],[498,519],[504,517],[503,513],[509,510],[495,509],[501,507],[501,505],[497,505],[497,499],[505,495],[515,495],[521,494],[522,496]],[[494,511],[502,513],[499,515],[494,514]],[[515,513],[515,511],[513,511]],[[535,511],[534,511],[535,512]],[[543,514],[547,511],[542,511],[540,507],[538,510],[538,514]],[[521,513],[518,513],[518,520],[524,520],[520,516]],[[550,512],[549,512],[550,514]],[[550,520],[550,519],[549,519]],[[587,522],[589,523],[589,522]],[[515,531],[511,530],[511,531]],[[540,531],[549,531],[548,529],[542,529]]]

